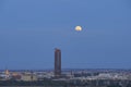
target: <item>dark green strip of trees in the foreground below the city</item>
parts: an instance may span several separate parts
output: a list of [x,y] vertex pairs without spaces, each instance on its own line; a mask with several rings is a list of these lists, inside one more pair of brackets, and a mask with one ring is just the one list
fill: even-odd
[[0,87],[131,87],[131,80],[94,79],[94,80],[0,80]]

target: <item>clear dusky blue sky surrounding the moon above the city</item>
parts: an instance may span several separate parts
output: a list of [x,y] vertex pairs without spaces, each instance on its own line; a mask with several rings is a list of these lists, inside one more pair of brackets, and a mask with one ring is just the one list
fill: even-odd
[[131,69],[130,33],[130,0],[0,0],[0,69]]

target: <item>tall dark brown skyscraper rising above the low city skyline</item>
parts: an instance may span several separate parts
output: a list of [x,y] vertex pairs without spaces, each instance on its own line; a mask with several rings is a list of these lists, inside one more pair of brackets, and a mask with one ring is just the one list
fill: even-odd
[[55,76],[61,75],[61,50],[55,49]]

